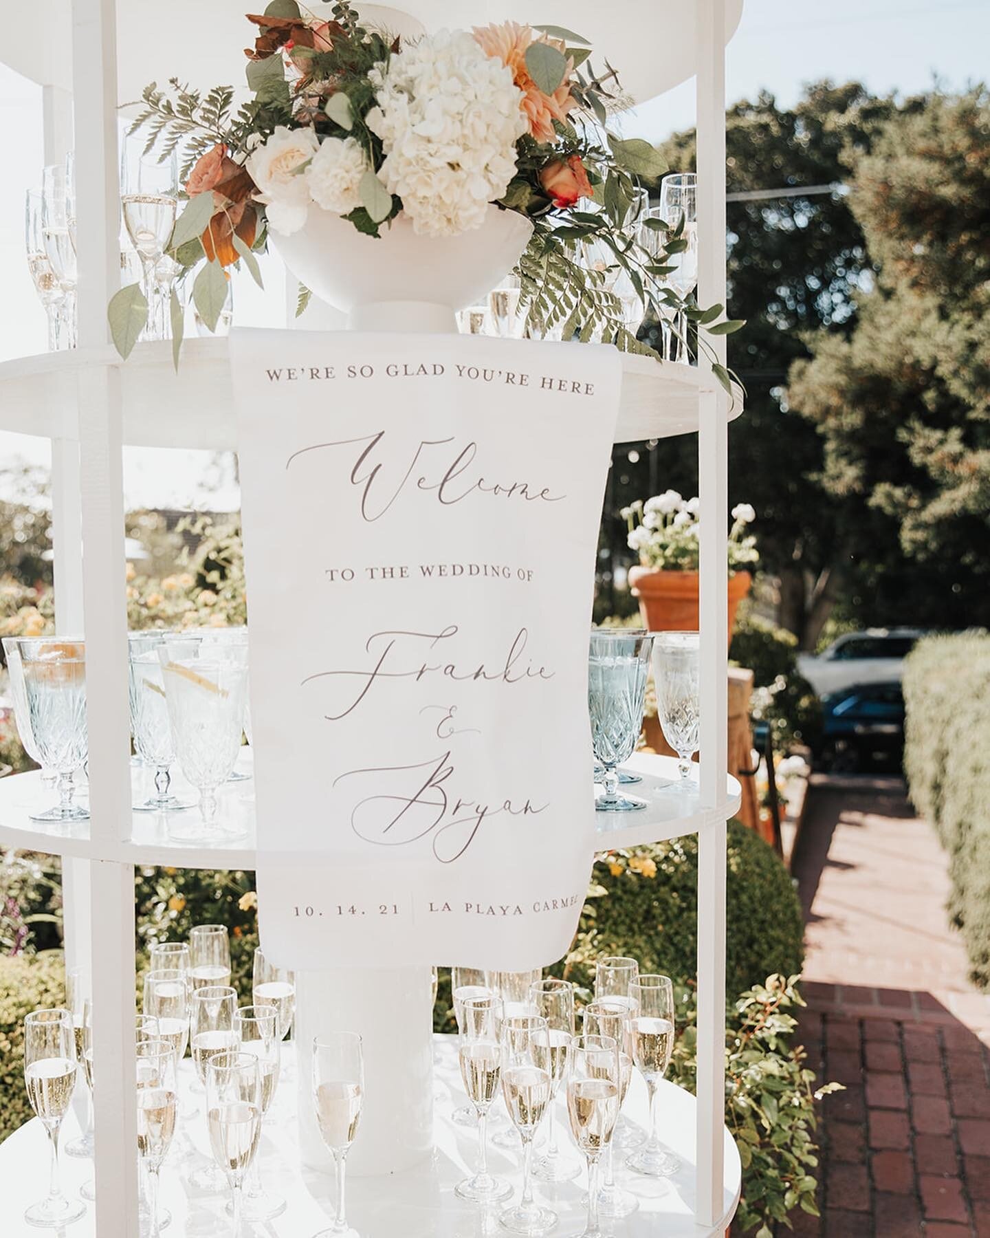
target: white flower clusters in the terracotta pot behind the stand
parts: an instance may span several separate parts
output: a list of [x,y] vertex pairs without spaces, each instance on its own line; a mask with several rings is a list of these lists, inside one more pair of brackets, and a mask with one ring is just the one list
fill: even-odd
[[[621,516],[629,524],[627,545],[640,556],[644,567],[657,571],[698,571],[698,520],[699,503],[682,499],[677,490],[665,490],[646,503],[636,500],[622,508]],[[754,567],[760,561],[756,539],[746,532],[756,519],[749,503],[733,508],[733,526],[729,530],[729,569]]]

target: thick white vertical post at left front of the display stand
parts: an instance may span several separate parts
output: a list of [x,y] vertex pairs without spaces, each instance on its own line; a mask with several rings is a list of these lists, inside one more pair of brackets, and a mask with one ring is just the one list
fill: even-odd
[[[95,350],[106,348],[120,280],[114,0],[73,0],[72,16],[78,337]],[[79,368],[78,410],[90,838],[113,854],[130,836],[131,807],[120,386],[109,354]],[[132,865],[94,862],[93,901],[95,1232],[137,1238]]]

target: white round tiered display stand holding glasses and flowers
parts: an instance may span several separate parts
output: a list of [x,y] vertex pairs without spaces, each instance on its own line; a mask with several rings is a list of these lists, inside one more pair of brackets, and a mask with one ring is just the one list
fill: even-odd
[[[64,7],[68,28],[68,4],[63,0],[56,7]],[[106,302],[119,282],[118,102],[135,98],[136,87],[155,77],[165,80],[177,74],[197,85],[210,85],[231,76],[226,63],[212,67],[204,48],[219,46],[218,32],[224,30],[240,46],[236,22],[249,7],[243,0],[173,0],[166,6],[147,0],[119,0],[118,5],[114,0],[73,0],[71,51],[35,41],[0,53],[45,88],[46,162],[57,162],[71,146],[75,150],[79,348],[0,365],[0,428],[46,437],[52,443],[57,625],[64,634],[84,631],[87,640],[92,816],[71,832],[32,822],[28,813],[38,801],[38,775],[9,777],[0,781],[0,844],[63,857],[66,951],[69,963],[92,982],[95,1161],[93,1166],[63,1161],[68,1190],[95,1177],[95,1202],[84,1219],[66,1231],[79,1238],[140,1236],[132,1086],[134,867],[256,865],[252,808],[243,792],[230,792],[224,808],[230,816],[240,815],[243,823],[243,838],[230,846],[177,843],[170,837],[166,818],[131,810],[121,448],[236,449],[226,342],[189,340],[176,376],[170,344],[139,344],[123,364],[106,342],[105,327]],[[407,0],[406,7],[431,27],[454,17],[453,6],[448,9],[439,0]],[[455,9],[458,25],[538,19],[595,33],[603,25],[592,0],[467,0]],[[702,305],[725,302],[724,45],[740,9],[741,0],[695,0],[694,5],[620,0],[608,24],[613,43],[605,51],[620,67],[624,56],[634,62],[637,98],[695,74]],[[188,20],[183,20],[187,10]],[[179,32],[181,41],[178,35],[170,36],[170,30]],[[193,36],[193,30],[203,33]],[[616,30],[621,33],[618,46]],[[187,63],[183,54],[192,59]],[[71,94],[67,66],[72,64],[78,69]],[[124,83],[120,90],[119,80]],[[724,337],[713,343],[724,363]],[[672,759],[637,755],[630,765],[644,775],[637,794],[647,800],[647,808],[632,820],[596,815],[595,821],[603,849],[691,833],[699,842],[697,1101],[665,1083],[662,1134],[682,1167],[671,1180],[625,1184],[640,1196],[640,1210],[627,1221],[610,1223],[616,1236],[721,1234],[739,1201],[739,1155],[723,1114],[725,831],[739,806],[739,785],[725,774],[726,428],[740,411],[741,395],[736,392],[730,401],[704,363],[698,368],[661,366],[650,359],[624,358],[615,441],[697,433],[705,520],[698,781],[691,791],[679,791],[669,785],[677,781]],[[561,428],[566,441],[567,427]],[[567,771],[562,770],[562,777]],[[387,959],[382,964],[387,966]],[[297,1068],[306,1071],[302,1054]],[[262,1141],[264,1171],[272,1188],[277,1185],[288,1200],[281,1217],[255,1231],[270,1238],[309,1238],[330,1223],[333,1184],[327,1175],[302,1165],[290,1092],[285,1088],[280,1102],[290,1112],[266,1128]],[[463,1101],[449,1044],[437,1046],[433,1094],[433,1155],[405,1172],[375,1174],[364,1167],[355,1175],[349,1211],[361,1238],[459,1238],[496,1232],[490,1214],[453,1195],[453,1184],[473,1164],[474,1136],[448,1120],[452,1104]],[[630,1091],[629,1107],[631,1118],[645,1125],[645,1092],[639,1082]],[[191,1134],[202,1150],[202,1133]],[[359,1138],[371,1153],[375,1133],[363,1128]],[[43,1140],[41,1128],[32,1122],[0,1146],[4,1238],[36,1232],[27,1229],[22,1214],[47,1188]],[[363,1158],[365,1165],[369,1160],[374,1156]],[[493,1155],[493,1167],[502,1174],[511,1170],[499,1154]],[[222,1207],[188,1197],[167,1167],[165,1176],[163,1203],[172,1213],[168,1233],[229,1232]],[[561,1214],[557,1233],[567,1236],[582,1228],[580,1193],[575,1184],[547,1192]]]

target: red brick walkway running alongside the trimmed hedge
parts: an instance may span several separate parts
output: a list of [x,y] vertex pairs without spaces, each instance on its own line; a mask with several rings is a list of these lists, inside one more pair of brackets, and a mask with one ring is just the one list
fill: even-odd
[[[813,1238],[990,1238],[990,997],[948,928],[945,859],[897,779],[819,777],[793,863],[802,1039],[823,1104]],[[786,1231],[781,1231],[786,1233]]]

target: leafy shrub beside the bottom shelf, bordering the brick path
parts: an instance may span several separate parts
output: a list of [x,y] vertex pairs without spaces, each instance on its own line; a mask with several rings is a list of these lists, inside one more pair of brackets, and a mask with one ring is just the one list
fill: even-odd
[[[797,976],[771,976],[735,1002],[725,1030],[725,1122],[742,1162],[742,1198],[736,1226],[756,1238],[771,1238],[777,1222],[790,1228],[794,1208],[818,1216],[814,1202],[818,1165],[814,1144],[814,1102],[840,1084],[814,1088],[814,1071],[791,1039],[803,1006]],[[691,990],[681,989],[678,1026],[682,1029],[668,1077],[695,1091],[698,1073],[697,1005]],[[781,1232],[781,1231],[776,1231]]]

